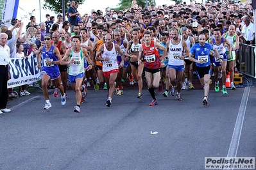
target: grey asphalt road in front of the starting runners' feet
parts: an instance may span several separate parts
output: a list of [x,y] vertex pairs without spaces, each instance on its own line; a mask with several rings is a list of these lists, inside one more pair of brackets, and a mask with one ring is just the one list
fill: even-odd
[[202,89],[182,91],[181,102],[157,91],[153,107],[146,89],[142,99],[124,89],[111,107],[107,91],[89,90],[80,113],[73,91],[65,106],[49,94],[48,110],[40,90],[8,102],[0,169],[204,169],[205,157],[255,157],[254,86],[228,95],[211,90],[207,106]]

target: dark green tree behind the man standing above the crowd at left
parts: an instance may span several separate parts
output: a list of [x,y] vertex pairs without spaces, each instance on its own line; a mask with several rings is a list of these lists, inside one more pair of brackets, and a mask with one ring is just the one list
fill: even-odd
[[[70,0],[65,1],[65,12],[67,12],[67,8],[69,8]],[[76,0],[78,4],[83,4],[85,0]],[[55,13],[62,13],[62,0],[44,0],[45,4],[43,6],[46,10],[51,10]]]

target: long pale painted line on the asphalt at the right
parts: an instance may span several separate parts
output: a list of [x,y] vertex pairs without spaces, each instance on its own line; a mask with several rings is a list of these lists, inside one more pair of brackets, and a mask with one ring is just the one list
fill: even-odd
[[244,88],[243,97],[241,100],[241,104],[237,114],[237,120],[235,122],[234,132],[232,135],[232,140],[229,146],[228,155],[226,157],[236,157],[237,155],[250,89],[250,86]]

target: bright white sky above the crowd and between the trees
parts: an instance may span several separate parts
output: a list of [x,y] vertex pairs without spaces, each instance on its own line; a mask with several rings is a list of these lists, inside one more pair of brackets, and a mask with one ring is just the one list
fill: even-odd
[[[69,1],[69,0],[65,0]],[[132,0],[130,0],[132,1]],[[40,3],[39,3],[40,2]],[[157,5],[160,4],[168,4],[170,0],[156,0]],[[119,0],[85,0],[84,4],[81,4],[78,6],[78,12],[81,13],[81,15],[85,13],[90,13],[92,9],[94,10],[102,10],[103,13],[105,12],[105,8],[116,8],[117,4],[120,3]],[[39,10],[39,4],[41,6],[41,10]],[[53,15],[56,18],[56,13],[51,12],[49,10],[43,10],[42,6],[44,4],[44,0],[20,0],[19,1],[19,9],[17,13],[17,19],[21,19],[24,21],[24,24],[27,24],[30,22],[30,15],[28,13],[32,13],[32,10],[35,9],[35,11],[32,13],[35,18],[37,19],[36,22],[39,23],[40,21],[46,20],[46,14],[49,13],[49,15]],[[28,6],[31,6],[28,8]],[[41,13],[41,17],[40,17]],[[25,17],[24,17],[25,16]]]

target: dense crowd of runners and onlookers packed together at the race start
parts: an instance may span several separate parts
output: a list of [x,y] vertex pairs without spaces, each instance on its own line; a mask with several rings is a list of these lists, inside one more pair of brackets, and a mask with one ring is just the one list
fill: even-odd
[[[230,72],[230,89],[234,90],[239,45],[255,43],[252,4],[209,1],[143,8],[133,0],[131,8],[118,12],[107,8],[82,13],[78,3],[70,1],[67,20],[58,15],[55,22],[55,17],[46,15],[46,22],[37,24],[32,16],[28,38],[21,36],[23,23],[19,20],[13,19],[9,27],[18,45],[35,43],[33,52],[38,63],[43,61],[38,66],[43,72],[44,109],[51,107],[49,86],[55,86],[54,97],[60,91],[65,105],[71,93],[67,92],[68,81],[76,93],[74,112],[80,112],[91,83],[95,91],[105,84],[107,107],[114,94],[123,94],[124,81],[138,87],[135,98],[140,100],[144,77],[151,106],[157,105],[155,91],[162,91],[163,85],[164,97],[170,94],[182,101],[182,89],[194,89],[192,81],[198,79],[204,89],[203,105],[207,105],[212,77],[215,91],[227,95],[226,72]],[[1,38],[12,39],[5,33],[2,28]],[[198,79],[193,80],[194,74]]]

